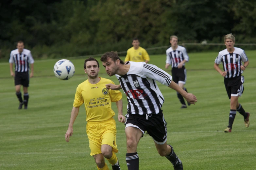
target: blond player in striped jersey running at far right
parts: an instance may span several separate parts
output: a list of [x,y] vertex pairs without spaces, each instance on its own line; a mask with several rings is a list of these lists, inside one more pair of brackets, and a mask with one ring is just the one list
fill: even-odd
[[[243,71],[249,65],[249,60],[243,49],[234,47],[235,37],[232,34],[224,36],[226,49],[219,52],[214,62],[214,68],[221,76],[224,77],[224,84],[230,99],[229,125],[224,132],[231,132],[235,120],[236,111],[244,117],[245,127],[249,127],[250,113],[246,112],[238,102],[238,97],[244,92],[245,78],[242,76]],[[244,64],[243,64],[244,62]],[[223,71],[219,64],[223,65]]]

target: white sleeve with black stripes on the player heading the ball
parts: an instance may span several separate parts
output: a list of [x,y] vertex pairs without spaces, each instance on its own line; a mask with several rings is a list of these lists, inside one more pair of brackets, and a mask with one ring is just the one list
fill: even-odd
[[144,64],[141,73],[147,78],[154,79],[165,86],[171,84],[172,76],[153,64]]

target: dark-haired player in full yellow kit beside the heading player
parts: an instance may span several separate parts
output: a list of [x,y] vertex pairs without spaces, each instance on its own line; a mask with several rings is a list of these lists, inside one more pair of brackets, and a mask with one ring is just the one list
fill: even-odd
[[98,170],[109,170],[104,157],[112,165],[113,170],[120,170],[116,154],[116,124],[111,108],[111,102],[116,102],[118,109],[118,120],[125,122],[123,116],[122,93],[115,90],[108,90],[106,84],[113,83],[106,78],[98,77],[99,62],[90,57],[84,61],[84,71],[88,80],[77,87],[70,122],[65,138],[73,134],[73,124],[77,118],[79,107],[84,103],[86,110],[86,133],[89,138],[91,155],[94,157]]

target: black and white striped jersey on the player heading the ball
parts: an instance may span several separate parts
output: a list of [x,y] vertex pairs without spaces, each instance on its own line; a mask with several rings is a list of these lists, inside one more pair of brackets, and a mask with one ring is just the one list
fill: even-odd
[[115,75],[127,96],[129,114],[158,114],[164,98],[156,81],[169,86],[172,76],[152,64],[127,62],[130,69],[124,76]]

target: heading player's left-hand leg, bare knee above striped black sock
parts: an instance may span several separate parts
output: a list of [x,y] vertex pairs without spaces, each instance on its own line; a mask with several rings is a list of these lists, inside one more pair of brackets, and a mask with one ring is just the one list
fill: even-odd
[[143,133],[136,127],[125,128],[127,153],[126,162],[128,170],[139,170],[139,155],[137,153],[137,146]]

